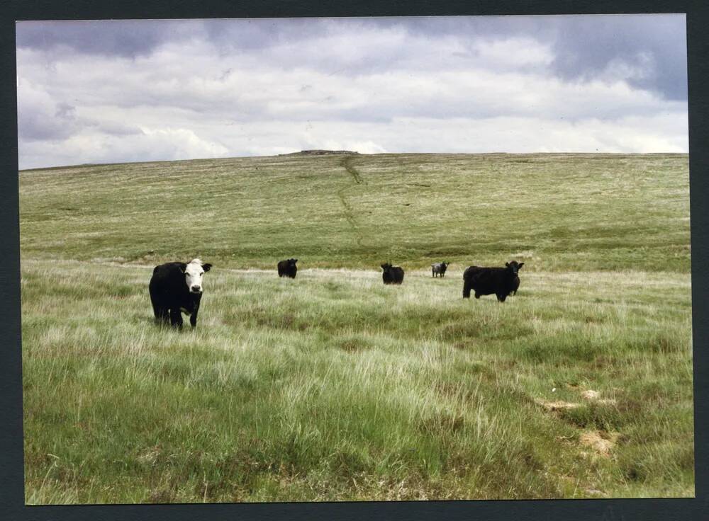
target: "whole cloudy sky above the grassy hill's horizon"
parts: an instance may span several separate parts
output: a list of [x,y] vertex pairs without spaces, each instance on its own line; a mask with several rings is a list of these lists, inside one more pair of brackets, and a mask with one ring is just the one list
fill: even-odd
[[21,169],[687,152],[684,15],[26,21]]

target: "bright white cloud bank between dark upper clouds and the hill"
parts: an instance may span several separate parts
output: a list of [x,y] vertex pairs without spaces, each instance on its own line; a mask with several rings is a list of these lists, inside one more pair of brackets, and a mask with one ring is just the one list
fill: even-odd
[[[322,29],[322,28],[320,28]],[[685,101],[632,81],[652,55],[554,75],[532,36],[359,21],[225,50],[197,31],[135,57],[18,49],[21,168],[383,151],[687,151]]]

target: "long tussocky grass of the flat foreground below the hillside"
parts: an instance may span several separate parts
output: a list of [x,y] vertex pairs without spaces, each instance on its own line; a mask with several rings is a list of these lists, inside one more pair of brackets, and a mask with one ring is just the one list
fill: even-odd
[[[689,308],[654,304],[686,275],[628,275],[631,307],[559,302],[555,274],[501,305],[452,278],[215,269],[180,334],[152,324],[149,273],[23,263],[28,502],[693,493]],[[615,405],[535,403],[583,389]],[[584,457],[586,430],[624,441]]]

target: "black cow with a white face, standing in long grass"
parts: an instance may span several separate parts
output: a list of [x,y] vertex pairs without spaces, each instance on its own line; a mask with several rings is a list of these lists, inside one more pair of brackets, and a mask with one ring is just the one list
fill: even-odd
[[189,315],[189,324],[197,325],[197,311],[202,299],[202,276],[211,264],[199,258],[189,263],[166,263],[155,266],[150,278],[150,301],[155,321],[182,329],[182,314]]

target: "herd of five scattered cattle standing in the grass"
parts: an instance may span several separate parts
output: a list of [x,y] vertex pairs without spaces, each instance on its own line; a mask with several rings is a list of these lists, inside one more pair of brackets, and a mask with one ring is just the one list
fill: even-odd
[[[298,259],[289,258],[278,263],[278,276],[295,278],[298,273]],[[484,268],[468,266],[463,272],[463,298],[475,298],[494,294],[499,302],[505,302],[510,294],[516,294],[520,287],[519,270],[525,263],[513,260],[505,263],[504,268]],[[450,263],[431,265],[432,277],[445,277]],[[197,312],[202,298],[202,277],[212,267],[194,258],[189,263],[165,263],[155,266],[150,278],[150,301],[155,313],[155,321],[182,329],[182,314],[189,316],[189,324],[197,325]],[[381,265],[381,279],[384,284],[401,284],[403,268],[391,263]]]

